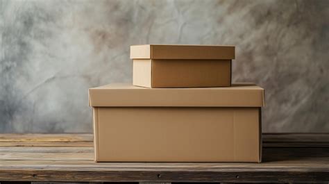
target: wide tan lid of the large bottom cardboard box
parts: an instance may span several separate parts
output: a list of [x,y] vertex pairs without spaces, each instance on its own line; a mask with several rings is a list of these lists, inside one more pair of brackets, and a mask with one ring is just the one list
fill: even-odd
[[93,107],[262,107],[264,89],[238,83],[231,87],[146,88],[110,84],[89,89]]

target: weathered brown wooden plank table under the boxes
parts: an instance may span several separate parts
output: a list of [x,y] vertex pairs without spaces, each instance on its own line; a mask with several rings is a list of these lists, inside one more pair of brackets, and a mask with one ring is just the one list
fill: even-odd
[[262,163],[96,163],[91,134],[0,134],[0,181],[329,181],[329,134],[264,134],[263,147]]

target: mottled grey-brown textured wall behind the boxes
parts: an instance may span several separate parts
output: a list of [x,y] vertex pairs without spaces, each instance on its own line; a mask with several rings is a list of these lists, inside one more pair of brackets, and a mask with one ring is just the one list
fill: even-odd
[[233,44],[265,132],[329,132],[329,1],[0,0],[0,132],[92,132],[87,89],[131,82],[130,44]]

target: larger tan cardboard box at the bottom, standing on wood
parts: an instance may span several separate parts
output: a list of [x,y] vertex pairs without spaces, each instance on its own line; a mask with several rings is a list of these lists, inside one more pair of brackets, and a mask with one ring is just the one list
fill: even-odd
[[97,162],[260,162],[255,85],[89,90]]

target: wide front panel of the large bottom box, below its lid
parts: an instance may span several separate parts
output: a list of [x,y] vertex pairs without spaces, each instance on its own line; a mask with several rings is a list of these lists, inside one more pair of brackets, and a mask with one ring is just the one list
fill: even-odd
[[258,162],[258,108],[95,108],[99,162]]

